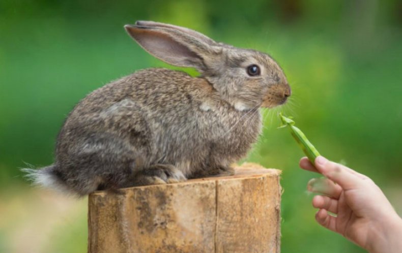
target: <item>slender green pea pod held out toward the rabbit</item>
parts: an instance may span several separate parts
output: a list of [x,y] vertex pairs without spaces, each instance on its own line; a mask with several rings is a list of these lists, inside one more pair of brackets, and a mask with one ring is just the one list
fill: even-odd
[[300,129],[295,127],[295,121],[285,117],[282,113],[279,113],[279,117],[282,120],[282,127],[288,126],[292,136],[295,138],[296,142],[299,144],[303,152],[307,155],[308,160],[314,164],[315,158],[320,155],[320,153],[315,149],[315,147],[308,141],[307,137],[301,132]]

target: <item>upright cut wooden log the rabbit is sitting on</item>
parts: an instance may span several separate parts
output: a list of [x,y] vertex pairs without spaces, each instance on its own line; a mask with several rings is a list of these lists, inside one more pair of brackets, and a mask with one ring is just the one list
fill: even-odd
[[88,251],[280,252],[280,171],[235,172],[91,194]]

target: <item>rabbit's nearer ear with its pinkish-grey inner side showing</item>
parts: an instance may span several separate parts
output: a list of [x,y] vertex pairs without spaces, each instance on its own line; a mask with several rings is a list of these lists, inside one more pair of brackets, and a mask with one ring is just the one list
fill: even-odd
[[203,71],[212,48],[205,42],[170,27],[125,25],[128,34],[147,52],[168,64]]

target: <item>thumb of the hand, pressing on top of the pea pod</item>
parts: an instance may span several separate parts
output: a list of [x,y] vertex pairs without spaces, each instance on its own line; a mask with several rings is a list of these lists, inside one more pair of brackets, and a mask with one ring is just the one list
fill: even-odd
[[354,189],[361,182],[358,176],[350,173],[343,165],[328,161],[324,156],[318,156],[314,165],[321,174],[339,184],[344,190]]

